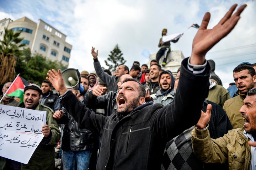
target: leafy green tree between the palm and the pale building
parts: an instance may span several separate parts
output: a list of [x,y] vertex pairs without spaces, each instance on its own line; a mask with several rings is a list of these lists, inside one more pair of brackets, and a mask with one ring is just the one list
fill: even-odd
[[47,77],[48,70],[65,70],[67,66],[60,61],[51,61],[42,54],[31,55],[30,49],[24,49],[20,62],[17,63],[16,72],[26,80],[41,84]]

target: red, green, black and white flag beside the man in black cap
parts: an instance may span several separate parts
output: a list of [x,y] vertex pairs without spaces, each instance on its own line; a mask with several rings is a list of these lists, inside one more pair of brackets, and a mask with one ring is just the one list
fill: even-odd
[[20,74],[18,74],[17,77],[12,82],[9,89],[6,91],[6,95],[19,97],[21,99],[20,103],[22,103],[24,88],[26,87],[27,84],[28,82],[24,78],[20,77]]

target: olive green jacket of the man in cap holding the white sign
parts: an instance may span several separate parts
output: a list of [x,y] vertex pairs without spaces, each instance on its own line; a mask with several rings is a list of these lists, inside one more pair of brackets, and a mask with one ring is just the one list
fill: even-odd
[[[22,104],[20,104],[20,107],[23,107],[24,104]],[[52,117],[53,110],[50,109],[48,106],[38,104],[35,110],[46,111],[46,124],[50,126],[52,137],[50,138],[49,143],[43,144],[41,142],[38,145],[32,157],[28,161],[28,164],[21,164],[21,170],[53,170],[55,168],[54,146],[58,143],[60,139],[59,126],[57,124],[57,121]]]

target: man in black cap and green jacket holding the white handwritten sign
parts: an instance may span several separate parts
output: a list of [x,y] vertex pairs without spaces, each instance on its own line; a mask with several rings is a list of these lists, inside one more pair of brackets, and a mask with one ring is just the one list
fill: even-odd
[[[52,117],[53,110],[50,109],[48,106],[39,104],[41,94],[42,90],[37,84],[27,85],[24,88],[24,101],[22,104],[19,105],[19,107],[46,111],[46,125],[42,126],[42,134],[44,137],[42,141],[38,144],[36,150],[32,154],[27,164],[23,164],[11,159],[6,159],[6,169],[54,169],[54,145],[60,139],[60,131],[56,120]],[[33,118],[32,116],[31,118],[27,118],[26,116],[26,119],[31,120],[36,118]],[[25,127],[25,125],[23,127]],[[30,146],[34,147],[33,145]]]

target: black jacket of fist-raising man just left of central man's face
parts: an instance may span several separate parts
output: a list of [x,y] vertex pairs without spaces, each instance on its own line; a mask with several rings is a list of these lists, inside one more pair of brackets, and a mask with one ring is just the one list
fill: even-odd
[[92,95],[92,91],[90,91],[85,96],[84,104],[90,109],[104,109],[105,116],[110,116],[114,112],[114,109],[117,109],[116,95],[117,92],[110,91],[107,94],[97,97]]

